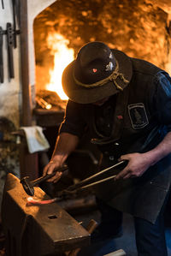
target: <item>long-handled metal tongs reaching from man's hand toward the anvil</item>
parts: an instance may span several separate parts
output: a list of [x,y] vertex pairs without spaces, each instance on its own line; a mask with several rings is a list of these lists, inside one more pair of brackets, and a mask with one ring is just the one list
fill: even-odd
[[[97,176],[101,176],[103,173],[107,172],[108,170],[112,170],[116,167],[120,167],[122,164],[127,164],[127,160],[122,160],[120,162],[118,162],[117,164],[114,164],[112,166],[109,166],[108,168],[104,169],[104,170],[101,170],[99,172],[97,172],[97,174],[93,175],[93,176],[90,176],[88,178],[86,178],[85,180],[77,183],[77,184],[74,184],[72,186],[69,186],[66,190],[63,191],[63,193],[59,193],[59,195],[61,194],[66,194],[66,193],[69,193],[69,192],[72,192],[74,190],[77,190],[77,189],[85,189],[85,188],[89,188],[89,187],[92,187],[94,185],[97,185],[98,183],[102,183],[102,182],[107,182],[113,178],[115,178],[116,175],[114,176],[109,176],[107,178],[104,178],[102,180],[99,180],[97,182],[92,182],[90,184],[85,184],[86,182],[90,182],[93,178],[97,177]],[[84,186],[85,185],[85,186]]]

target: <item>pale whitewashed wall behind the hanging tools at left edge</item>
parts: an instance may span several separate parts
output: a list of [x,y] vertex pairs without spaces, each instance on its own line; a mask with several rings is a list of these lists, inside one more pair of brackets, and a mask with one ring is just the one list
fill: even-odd
[[[4,3],[4,1],[3,1]],[[4,9],[0,4],[0,26],[6,30],[7,22],[13,26],[11,1],[4,3]],[[20,123],[21,85],[20,85],[20,39],[17,36],[17,48],[12,49],[14,57],[15,78],[9,79],[7,36],[3,35],[3,73],[4,80],[0,83],[0,116],[5,116],[15,127]]]

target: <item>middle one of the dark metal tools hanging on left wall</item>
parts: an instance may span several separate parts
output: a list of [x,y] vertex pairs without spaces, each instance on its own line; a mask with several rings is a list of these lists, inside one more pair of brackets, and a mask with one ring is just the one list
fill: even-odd
[[11,23],[7,23],[7,45],[8,45],[8,63],[9,63],[9,78],[15,77],[14,58],[13,58],[13,29]]

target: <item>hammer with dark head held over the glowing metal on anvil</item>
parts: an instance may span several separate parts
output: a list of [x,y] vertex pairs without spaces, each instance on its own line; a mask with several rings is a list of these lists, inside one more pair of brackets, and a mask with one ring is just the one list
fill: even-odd
[[[61,171],[64,171],[64,170],[68,170],[67,165],[63,165],[57,171],[61,172]],[[39,177],[38,179],[36,179],[34,181],[29,181],[29,176],[26,176],[26,177],[21,179],[21,184],[22,184],[22,187],[24,188],[24,190],[26,191],[26,193],[33,196],[34,195],[34,187],[36,185],[38,185],[40,182],[45,182],[45,181],[49,180],[51,177],[53,177],[55,175],[56,175],[56,172],[53,172],[51,174],[41,176],[41,177]]]

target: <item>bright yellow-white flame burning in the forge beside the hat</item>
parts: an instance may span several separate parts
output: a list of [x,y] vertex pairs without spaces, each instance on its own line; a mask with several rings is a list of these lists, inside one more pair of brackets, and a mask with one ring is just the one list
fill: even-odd
[[68,39],[59,33],[50,33],[47,41],[54,55],[54,69],[50,69],[50,83],[46,85],[46,88],[56,92],[63,100],[68,99],[62,89],[62,72],[74,60],[74,49],[68,48]]

